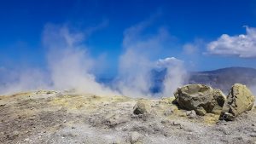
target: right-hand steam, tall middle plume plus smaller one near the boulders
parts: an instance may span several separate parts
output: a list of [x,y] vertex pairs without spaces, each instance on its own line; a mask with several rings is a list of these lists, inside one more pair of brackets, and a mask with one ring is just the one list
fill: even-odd
[[[117,89],[123,95],[153,96],[150,92],[152,86],[150,74],[154,68],[160,66],[159,61],[154,59],[161,50],[166,48],[166,43],[172,41],[172,37],[165,28],[160,28],[154,35],[143,34],[143,30],[149,24],[149,21],[143,21],[136,26],[131,26],[124,33],[125,52],[119,59],[119,76],[116,82]],[[169,59],[166,60],[171,62]],[[172,64],[175,62],[177,61],[172,60]],[[177,89],[174,87],[183,84],[183,73],[179,71],[184,71],[184,69],[179,64],[168,65],[166,68],[168,71],[162,95],[172,96],[174,89]]]

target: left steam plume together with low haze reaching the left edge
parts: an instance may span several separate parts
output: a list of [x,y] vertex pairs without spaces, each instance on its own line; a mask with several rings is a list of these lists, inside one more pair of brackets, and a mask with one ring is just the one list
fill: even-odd
[[[96,27],[92,30],[95,31]],[[92,71],[97,61],[86,51],[84,37],[82,32],[70,32],[67,26],[45,26],[43,43],[48,69],[19,67],[10,71],[2,67],[0,94],[37,89],[75,89],[95,95],[118,95],[107,86],[96,83]]]

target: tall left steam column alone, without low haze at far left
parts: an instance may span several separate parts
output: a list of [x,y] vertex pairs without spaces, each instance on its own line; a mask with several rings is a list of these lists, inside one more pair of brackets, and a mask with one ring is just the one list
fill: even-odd
[[96,65],[86,51],[83,33],[71,33],[67,27],[46,26],[44,45],[55,89],[76,89],[96,95],[113,95],[113,91],[96,83],[91,73]]

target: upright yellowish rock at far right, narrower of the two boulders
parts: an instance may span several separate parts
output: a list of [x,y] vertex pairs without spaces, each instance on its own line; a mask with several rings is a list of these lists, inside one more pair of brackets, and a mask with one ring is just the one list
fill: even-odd
[[219,119],[233,120],[241,112],[251,110],[253,108],[253,101],[254,96],[250,89],[247,89],[246,85],[234,84],[230,89]]

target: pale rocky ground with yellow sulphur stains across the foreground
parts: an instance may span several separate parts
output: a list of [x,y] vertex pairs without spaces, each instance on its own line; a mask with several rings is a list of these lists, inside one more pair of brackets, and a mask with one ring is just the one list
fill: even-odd
[[256,110],[234,121],[178,109],[174,98],[36,91],[0,96],[0,143],[256,143]]

